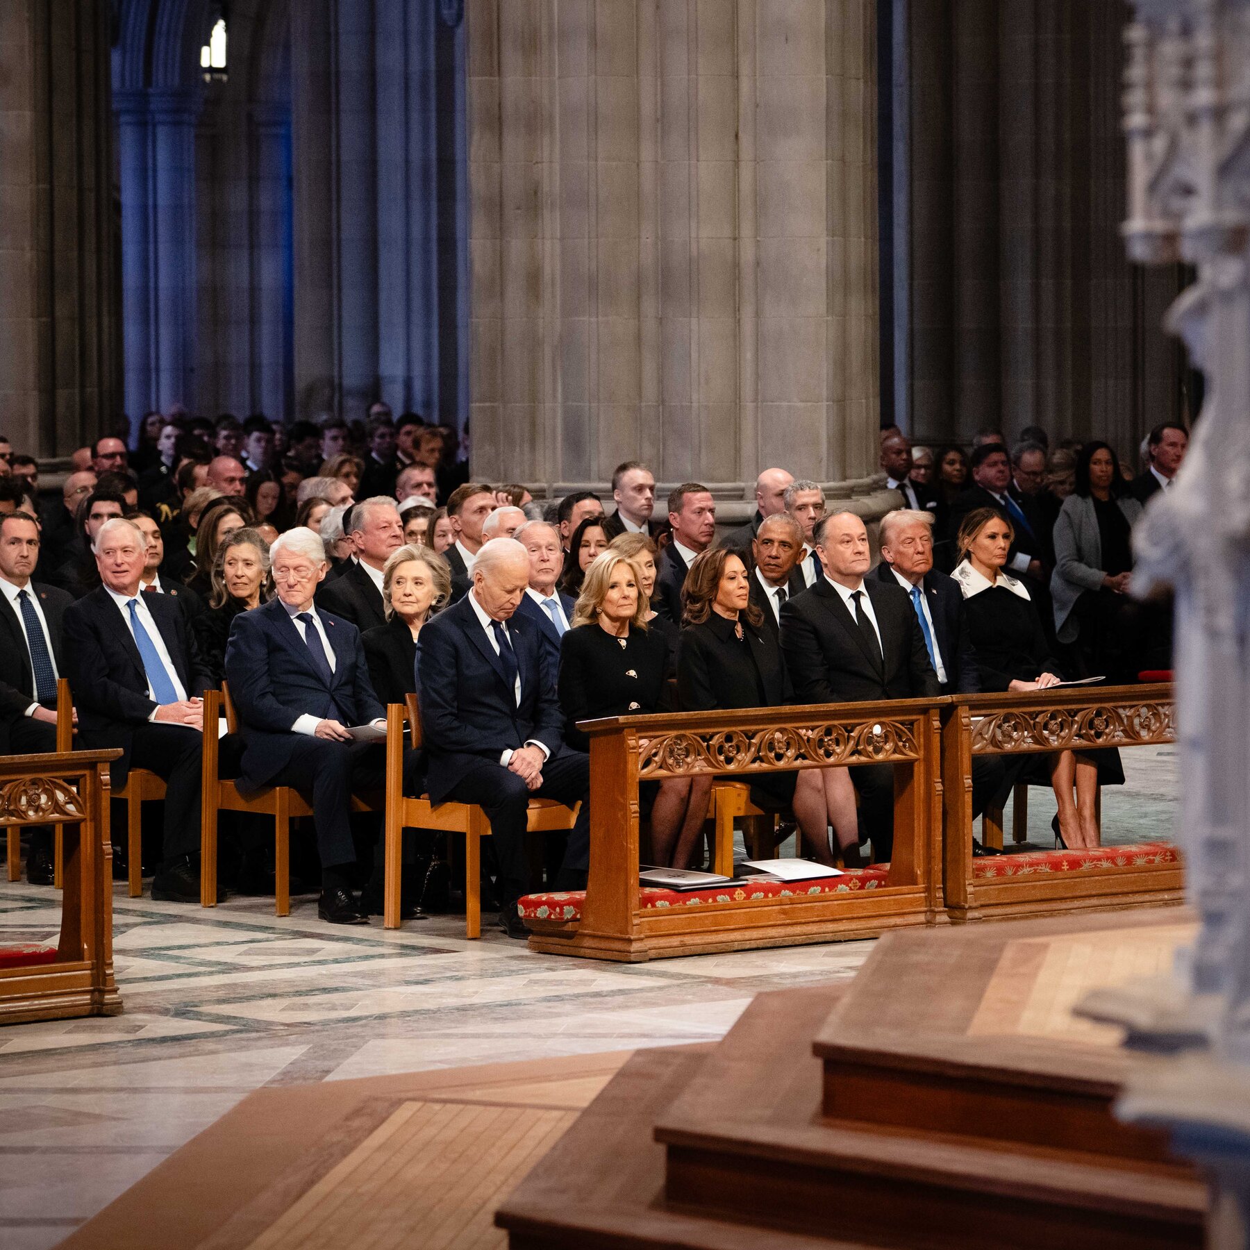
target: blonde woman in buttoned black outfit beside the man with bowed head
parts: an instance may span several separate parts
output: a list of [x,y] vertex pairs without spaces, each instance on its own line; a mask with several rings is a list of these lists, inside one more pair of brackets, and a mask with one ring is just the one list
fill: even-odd
[[[590,749],[579,720],[660,711],[669,646],[648,625],[650,611],[638,566],[605,551],[586,570],[572,626],[560,642],[560,706],[565,741]],[[685,868],[708,815],[711,779],[644,781],[639,800],[650,808],[651,854],[656,864]]]

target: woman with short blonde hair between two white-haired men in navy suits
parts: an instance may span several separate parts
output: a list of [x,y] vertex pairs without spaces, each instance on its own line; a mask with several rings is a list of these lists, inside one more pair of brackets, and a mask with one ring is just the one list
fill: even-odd
[[426,546],[401,546],[382,566],[386,624],[365,630],[369,680],[382,705],[416,692],[416,638],[451,599],[451,569]]

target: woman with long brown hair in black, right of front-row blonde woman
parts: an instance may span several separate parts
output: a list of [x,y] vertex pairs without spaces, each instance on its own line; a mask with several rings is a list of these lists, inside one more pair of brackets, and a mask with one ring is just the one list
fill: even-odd
[[[751,602],[746,565],[732,551],[716,548],[698,555],[681,591],[685,605],[678,648],[678,699],[682,711],[729,708],[779,708],[792,699],[790,678],[776,635],[762,628]],[[826,778],[825,774],[829,774]],[[829,845],[834,821],[844,859],[858,866],[858,828],[845,831],[842,812],[854,791],[845,769],[804,769],[751,778],[751,795],[761,806],[792,806],[809,849],[821,864],[835,862]],[[830,799],[826,791],[836,798]],[[844,836],[845,834],[845,836]]]

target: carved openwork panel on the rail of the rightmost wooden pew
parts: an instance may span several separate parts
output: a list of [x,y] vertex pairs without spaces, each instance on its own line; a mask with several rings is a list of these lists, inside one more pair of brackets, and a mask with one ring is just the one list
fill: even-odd
[[972,721],[974,755],[1154,746],[1176,740],[1170,702],[991,712]]

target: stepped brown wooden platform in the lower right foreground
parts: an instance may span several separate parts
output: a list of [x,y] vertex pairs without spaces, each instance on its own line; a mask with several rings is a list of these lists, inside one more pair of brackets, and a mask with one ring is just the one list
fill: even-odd
[[498,1221],[516,1248],[1201,1246],[1205,1186],[1114,1119],[1130,1060],[1065,1006],[1188,934],[891,935],[849,992],[760,995],[709,1056],[635,1058]]

